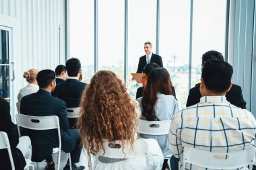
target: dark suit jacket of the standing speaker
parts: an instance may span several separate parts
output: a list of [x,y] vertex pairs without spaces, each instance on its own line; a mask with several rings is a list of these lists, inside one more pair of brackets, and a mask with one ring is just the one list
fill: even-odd
[[[154,62],[154,63],[158,64],[160,67],[162,67],[162,57],[158,56],[158,54],[152,53],[150,62]],[[136,73],[142,73],[143,69],[146,65],[147,65],[146,55],[141,56],[139,58],[139,65],[138,65],[138,69],[137,69]]]

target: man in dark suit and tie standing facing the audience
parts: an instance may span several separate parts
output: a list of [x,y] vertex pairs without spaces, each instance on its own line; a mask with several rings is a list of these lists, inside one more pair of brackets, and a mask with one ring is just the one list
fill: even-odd
[[162,58],[161,58],[161,56],[158,56],[157,54],[152,53],[151,42],[144,43],[144,50],[146,52],[146,55],[141,56],[139,58],[139,65],[138,65],[136,73],[142,73],[144,67],[150,62],[154,62],[154,63],[158,64],[160,67],[162,67]]

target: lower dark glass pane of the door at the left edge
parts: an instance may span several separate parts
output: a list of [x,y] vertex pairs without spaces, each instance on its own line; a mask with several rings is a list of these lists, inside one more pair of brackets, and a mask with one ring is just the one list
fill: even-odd
[[0,95],[9,97],[9,66],[0,65]]

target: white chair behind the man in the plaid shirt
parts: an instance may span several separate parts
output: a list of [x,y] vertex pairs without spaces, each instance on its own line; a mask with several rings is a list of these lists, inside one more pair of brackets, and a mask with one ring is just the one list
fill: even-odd
[[185,146],[183,153],[183,170],[186,163],[209,169],[237,169],[247,167],[253,169],[255,147],[234,153],[212,153],[197,148]]

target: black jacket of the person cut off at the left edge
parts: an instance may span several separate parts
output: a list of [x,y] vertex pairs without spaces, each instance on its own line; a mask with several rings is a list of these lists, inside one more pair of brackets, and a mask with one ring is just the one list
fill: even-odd
[[[11,146],[11,155],[13,157],[13,162],[15,169],[24,169],[26,161],[22,152],[16,148],[19,142],[18,132],[15,128],[13,122],[11,122],[10,107],[9,103],[5,99],[0,98],[0,131],[7,134],[9,138],[9,144]],[[11,163],[9,157],[7,156],[7,149],[0,150],[0,164],[1,169],[11,169]]]

